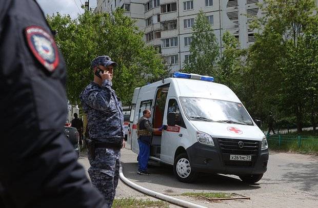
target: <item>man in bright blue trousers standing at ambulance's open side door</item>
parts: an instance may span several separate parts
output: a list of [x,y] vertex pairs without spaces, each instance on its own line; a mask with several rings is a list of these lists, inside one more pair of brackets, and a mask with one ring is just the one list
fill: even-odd
[[150,155],[150,142],[152,132],[162,131],[163,126],[158,129],[153,129],[151,127],[149,118],[151,117],[151,112],[148,109],[143,111],[143,115],[137,124],[137,134],[138,134],[138,144],[139,144],[139,155],[138,155],[138,171],[137,174],[140,175],[150,175],[148,173],[148,160]]

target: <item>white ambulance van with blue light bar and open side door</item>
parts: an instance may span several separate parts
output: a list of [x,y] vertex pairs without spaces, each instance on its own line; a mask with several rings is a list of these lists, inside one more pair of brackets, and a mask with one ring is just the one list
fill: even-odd
[[192,182],[204,172],[255,183],[267,170],[266,137],[233,91],[213,80],[177,72],[136,88],[128,144],[138,154],[136,124],[149,109],[153,128],[166,125],[152,135],[150,159],[173,165],[178,180]]

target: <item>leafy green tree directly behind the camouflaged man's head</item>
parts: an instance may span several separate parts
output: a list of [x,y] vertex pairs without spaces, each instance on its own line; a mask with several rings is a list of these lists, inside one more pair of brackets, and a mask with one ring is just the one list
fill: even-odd
[[144,33],[122,9],[112,14],[86,11],[76,19],[57,13],[47,19],[66,61],[67,95],[72,103],[79,102],[79,94],[93,79],[90,62],[96,56],[109,55],[118,63],[113,88],[124,105],[129,105],[134,88],[166,73],[160,54],[146,46]]

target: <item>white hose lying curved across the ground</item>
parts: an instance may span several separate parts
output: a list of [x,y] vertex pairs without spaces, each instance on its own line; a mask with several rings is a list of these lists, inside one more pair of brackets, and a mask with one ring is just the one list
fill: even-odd
[[201,206],[201,205],[194,204],[194,203],[191,203],[191,202],[188,202],[188,201],[184,201],[184,200],[181,200],[181,199],[173,198],[171,196],[167,196],[167,195],[164,195],[164,194],[161,194],[161,193],[158,193],[158,192],[154,192],[154,191],[151,191],[149,189],[144,188],[143,186],[135,184],[135,183],[131,182],[130,180],[128,180],[124,176],[123,167],[122,166],[120,167],[120,178],[122,179],[122,181],[124,183],[126,183],[130,187],[132,187],[132,188],[134,188],[134,189],[136,189],[136,190],[138,190],[138,191],[140,191],[140,192],[142,192],[144,194],[147,194],[149,196],[153,196],[155,198],[162,199],[164,201],[168,201],[170,203],[181,205],[181,206],[184,206],[184,207],[206,208],[205,206]]

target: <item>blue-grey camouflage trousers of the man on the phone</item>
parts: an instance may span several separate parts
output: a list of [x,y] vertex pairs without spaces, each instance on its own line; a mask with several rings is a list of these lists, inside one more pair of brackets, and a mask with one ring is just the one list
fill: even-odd
[[104,196],[106,205],[111,207],[119,178],[120,150],[96,148],[95,158],[92,159],[88,154],[88,160],[91,182]]

